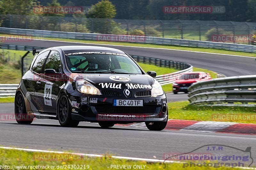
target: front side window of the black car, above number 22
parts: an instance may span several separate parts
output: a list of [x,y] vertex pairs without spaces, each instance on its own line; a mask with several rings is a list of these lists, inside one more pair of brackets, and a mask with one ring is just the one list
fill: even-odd
[[60,54],[57,51],[51,51],[45,63],[44,70],[54,69],[57,73],[59,73],[60,68],[61,68]]

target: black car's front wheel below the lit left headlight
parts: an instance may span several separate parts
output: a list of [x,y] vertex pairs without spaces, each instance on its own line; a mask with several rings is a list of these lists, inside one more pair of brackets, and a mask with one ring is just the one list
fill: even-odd
[[79,121],[74,121],[71,118],[71,106],[68,102],[68,97],[65,94],[60,95],[57,105],[57,115],[60,126],[77,127]]

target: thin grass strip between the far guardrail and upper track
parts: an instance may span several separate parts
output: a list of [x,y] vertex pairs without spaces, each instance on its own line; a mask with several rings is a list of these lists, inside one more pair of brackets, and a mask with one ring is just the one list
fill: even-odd
[[[14,34],[0,34],[0,36],[11,36],[11,35],[14,35]],[[178,50],[188,50],[188,51],[199,51],[199,52],[208,52],[208,53],[220,53],[220,54],[242,55],[242,56],[256,57],[255,53],[248,53],[248,52],[241,52],[241,51],[230,51],[230,50],[214,49],[214,48],[198,48],[198,47],[140,44],[140,43],[128,43],[128,42],[111,42],[111,41],[72,40],[72,39],[50,38],[50,37],[33,37],[33,38],[34,39],[41,39],[41,40],[83,42],[83,43],[109,44],[109,45],[123,45],[123,46],[133,46],[133,47],[167,48],[167,49],[178,49]]]

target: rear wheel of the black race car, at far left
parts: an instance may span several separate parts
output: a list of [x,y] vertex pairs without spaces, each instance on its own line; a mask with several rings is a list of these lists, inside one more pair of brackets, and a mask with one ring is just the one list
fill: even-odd
[[28,115],[24,98],[21,92],[18,92],[14,101],[14,115],[17,123],[31,124],[34,120],[34,115]]

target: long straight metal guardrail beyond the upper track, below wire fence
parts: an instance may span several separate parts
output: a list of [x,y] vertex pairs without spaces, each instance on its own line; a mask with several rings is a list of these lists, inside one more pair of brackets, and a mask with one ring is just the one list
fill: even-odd
[[0,33],[22,34],[22,35],[30,35],[30,36],[37,36],[37,37],[68,38],[68,39],[78,39],[78,40],[118,41],[118,42],[124,41],[124,42],[163,44],[163,45],[220,48],[220,49],[244,51],[244,52],[254,52],[256,50],[256,47],[253,45],[231,44],[231,43],[210,42],[210,41],[180,40],[180,39],[160,38],[160,37],[131,36],[131,35],[72,33],[72,32],[59,32],[59,31],[4,28],[4,27],[0,27]]

